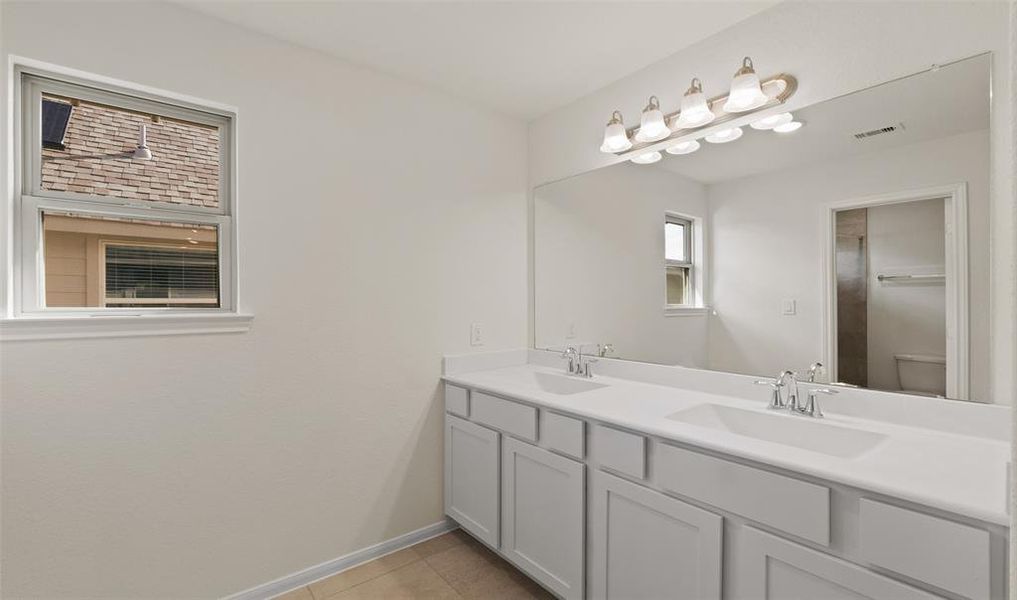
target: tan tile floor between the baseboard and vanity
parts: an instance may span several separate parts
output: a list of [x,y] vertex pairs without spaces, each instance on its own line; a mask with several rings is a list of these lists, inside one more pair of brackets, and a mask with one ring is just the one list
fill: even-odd
[[275,600],[530,600],[553,598],[456,530],[277,596]]

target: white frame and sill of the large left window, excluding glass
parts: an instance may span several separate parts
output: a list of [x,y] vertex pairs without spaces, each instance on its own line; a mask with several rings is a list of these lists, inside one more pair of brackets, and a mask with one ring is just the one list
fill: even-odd
[[[9,220],[12,244],[6,261],[0,340],[122,337],[158,334],[243,332],[251,315],[239,310],[237,264],[235,108],[199,101],[26,59],[11,59],[12,125]],[[214,125],[220,131],[220,189],[217,207],[132,200],[46,190],[42,183],[41,95],[80,98],[126,110]],[[46,307],[43,256],[44,212],[193,223],[217,228],[218,307]],[[104,318],[89,318],[89,317]],[[144,324],[140,324],[144,323]]]

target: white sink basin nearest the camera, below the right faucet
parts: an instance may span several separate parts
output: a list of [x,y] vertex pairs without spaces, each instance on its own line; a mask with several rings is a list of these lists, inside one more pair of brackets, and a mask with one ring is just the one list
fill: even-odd
[[886,439],[882,433],[829,425],[809,417],[747,411],[719,404],[701,404],[667,418],[842,459],[860,457]]

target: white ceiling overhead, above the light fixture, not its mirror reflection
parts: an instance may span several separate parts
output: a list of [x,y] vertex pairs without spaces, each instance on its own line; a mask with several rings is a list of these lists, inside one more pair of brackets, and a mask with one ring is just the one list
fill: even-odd
[[177,1],[523,119],[777,3]]

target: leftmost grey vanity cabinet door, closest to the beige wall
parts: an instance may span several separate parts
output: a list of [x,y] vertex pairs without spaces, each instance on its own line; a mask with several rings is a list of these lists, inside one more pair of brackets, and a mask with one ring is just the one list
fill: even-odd
[[498,546],[498,433],[445,415],[445,515]]

